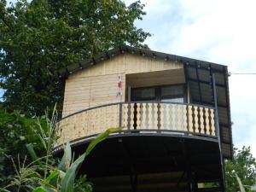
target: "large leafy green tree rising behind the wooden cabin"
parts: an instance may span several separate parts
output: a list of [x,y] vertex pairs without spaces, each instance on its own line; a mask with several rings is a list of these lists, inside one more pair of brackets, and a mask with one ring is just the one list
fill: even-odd
[[62,101],[55,71],[120,44],[146,47],[134,26],[144,5],[120,0],[0,0],[0,87],[3,105],[38,115]]

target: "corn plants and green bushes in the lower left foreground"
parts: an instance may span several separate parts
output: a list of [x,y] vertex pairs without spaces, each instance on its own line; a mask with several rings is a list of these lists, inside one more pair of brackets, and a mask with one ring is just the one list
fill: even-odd
[[[0,137],[3,191],[92,191],[92,185],[85,175],[76,178],[79,166],[97,143],[120,128],[110,128],[100,134],[76,160],[73,160],[67,141],[63,157],[59,160],[52,153],[57,139],[55,132],[58,129],[56,110],[53,110],[51,117],[46,113],[42,119],[26,119],[20,113],[6,113],[1,110],[1,131],[5,133],[4,137]],[[9,142],[9,145],[4,145],[5,142]]]

